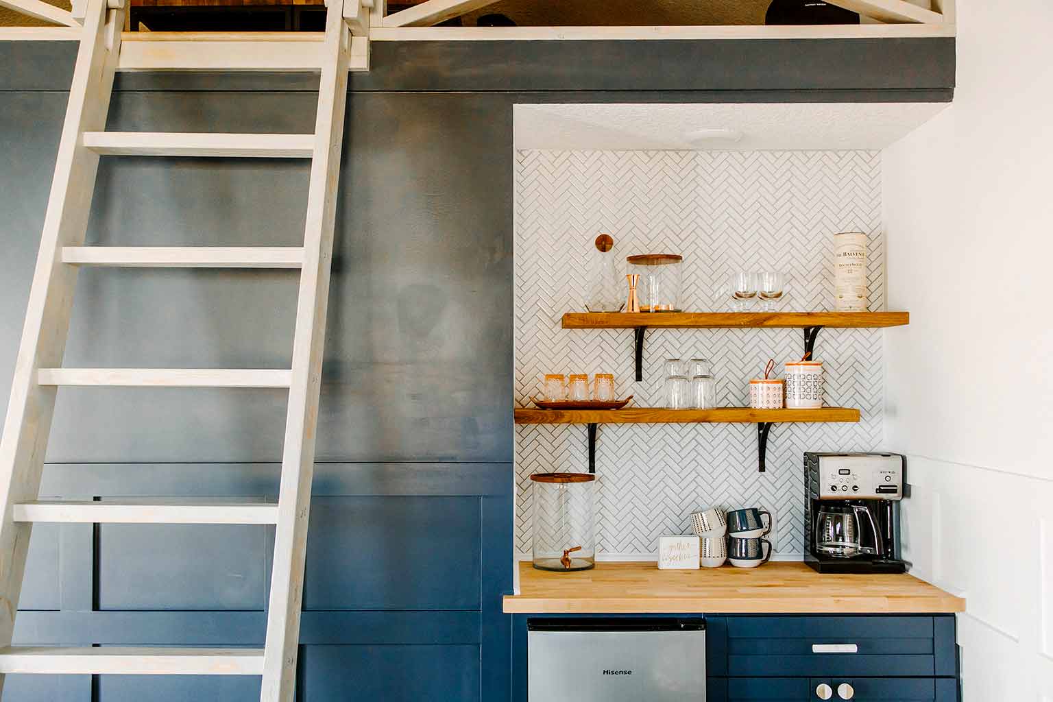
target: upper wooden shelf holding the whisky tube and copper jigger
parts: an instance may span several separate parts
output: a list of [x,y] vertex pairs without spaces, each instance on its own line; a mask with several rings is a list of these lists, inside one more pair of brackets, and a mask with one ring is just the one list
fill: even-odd
[[564,329],[796,329],[812,326],[833,328],[883,328],[911,321],[906,312],[569,312]]

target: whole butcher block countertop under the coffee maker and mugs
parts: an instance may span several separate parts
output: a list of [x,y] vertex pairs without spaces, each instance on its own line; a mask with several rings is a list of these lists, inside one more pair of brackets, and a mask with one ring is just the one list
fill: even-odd
[[826,575],[801,562],[659,570],[650,563],[597,563],[547,573],[519,563],[514,614],[948,614],[966,601],[910,575]]

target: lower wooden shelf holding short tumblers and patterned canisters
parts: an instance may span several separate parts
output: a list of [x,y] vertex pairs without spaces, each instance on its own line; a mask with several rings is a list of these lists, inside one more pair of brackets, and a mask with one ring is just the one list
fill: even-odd
[[516,424],[688,424],[768,422],[858,422],[859,410],[850,407],[818,409],[754,409],[717,407],[716,409],[664,409],[632,407],[627,409],[536,409],[517,408]]

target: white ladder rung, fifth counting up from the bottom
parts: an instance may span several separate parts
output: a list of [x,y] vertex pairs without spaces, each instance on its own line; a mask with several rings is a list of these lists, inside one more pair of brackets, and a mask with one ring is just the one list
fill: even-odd
[[311,158],[313,134],[85,132],[84,146],[106,156]]

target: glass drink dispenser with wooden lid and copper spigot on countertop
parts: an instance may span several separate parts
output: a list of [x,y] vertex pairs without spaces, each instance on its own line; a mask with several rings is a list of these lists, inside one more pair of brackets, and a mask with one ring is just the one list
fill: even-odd
[[535,473],[530,477],[534,507],[534,567],[571,573],[596,565],[596,531],[591,473]]

